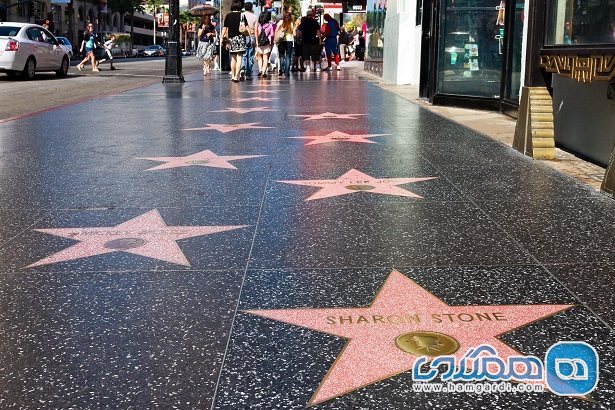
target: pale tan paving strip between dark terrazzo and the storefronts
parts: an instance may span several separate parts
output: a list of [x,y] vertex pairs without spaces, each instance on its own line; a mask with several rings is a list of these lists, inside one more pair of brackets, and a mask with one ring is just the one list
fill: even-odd
[[[382,81],[382,78],[363,71],[359,64],[350,64],[347,68],[357,73],[357,75],[375,83],[384,90],[419,104],[431,112],[442,115],[445,118],[486,135],[512,149],[516,125],[516,120],[514,118],[493,111],[431,105],[419,98],[419,91],[416,86],[385,83]],[[540,162],[600,191],[600,185],[606,171],[605,168],[585,161],[560,148],[556,148],[555,152],[555,160]]]

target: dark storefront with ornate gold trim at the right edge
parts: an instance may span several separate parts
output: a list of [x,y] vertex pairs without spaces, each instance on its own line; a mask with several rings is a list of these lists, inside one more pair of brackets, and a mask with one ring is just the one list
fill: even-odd
[[552,91],[556,144],[606,165],[615,143],[615,0],[538,3],[534,35],[544,42],[535,65]]

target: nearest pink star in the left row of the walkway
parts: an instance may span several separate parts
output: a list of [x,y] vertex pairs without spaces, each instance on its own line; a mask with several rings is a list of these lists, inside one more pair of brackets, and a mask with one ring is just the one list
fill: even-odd
[[79,243],[27,267],[49,265],[118,251],[190,266],[176,241],[247,226],[167,226],[158,211],[153,209],[110,227],[35,229],[37,232],[74,239]]

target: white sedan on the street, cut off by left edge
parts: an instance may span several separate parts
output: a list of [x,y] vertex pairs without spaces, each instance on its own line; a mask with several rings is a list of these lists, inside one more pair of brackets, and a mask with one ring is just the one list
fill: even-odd
[[68,73],[69,57],[60,42],[43,27],[29,23],[0,23],[0,72],[31,80],[40,71]]

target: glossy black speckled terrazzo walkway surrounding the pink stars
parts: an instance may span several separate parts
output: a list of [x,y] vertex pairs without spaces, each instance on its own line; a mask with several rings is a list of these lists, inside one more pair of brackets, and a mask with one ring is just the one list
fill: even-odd
[[[613,200],[350,71],[186,80],[0,124],[1,408],[615,408]],[[331,182],[351,170],[373,179]],[[126,224],[141,215],[158,219]],[[233,229],[199,230],[216,226]],[[257,314],[361,311],[392,275],[455,309],[564,306],[498,343],[586,342],[597,388],[357,384],[328,375],[349,339]],[[369,360],[395,365],[394,343]],[[338,393],[314,401],[325,380]]]

